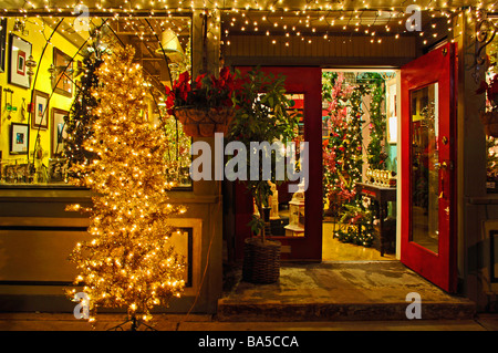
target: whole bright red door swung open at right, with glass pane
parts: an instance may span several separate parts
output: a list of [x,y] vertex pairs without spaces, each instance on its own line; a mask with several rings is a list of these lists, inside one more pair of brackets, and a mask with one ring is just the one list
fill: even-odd
[[446,44],[401,70],[401,260],[456,291],[455,46]]

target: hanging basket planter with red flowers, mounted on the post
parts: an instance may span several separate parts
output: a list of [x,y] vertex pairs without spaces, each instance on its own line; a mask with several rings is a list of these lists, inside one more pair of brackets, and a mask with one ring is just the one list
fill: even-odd
[[194,81],[186,71],[172,87],[166,86],[166,108],[189,136],[226,134],[234,117],[234,74],[228,68],[222,68],[218,76],[201,74]]

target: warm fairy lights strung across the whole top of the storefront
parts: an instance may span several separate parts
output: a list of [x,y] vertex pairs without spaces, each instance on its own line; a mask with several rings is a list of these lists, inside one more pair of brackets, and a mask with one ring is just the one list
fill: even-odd
[[[173,29],[176,33],[191,28],[191,13],[207,14],[207,30],[221,45],[230,45],[232,37],[262,35],[271,44],[291,45],[299,39],[309,44],[319,40],[331,41],[334,35],[364,35],[371,43],[382,43],[386,38],[400,39],[403,35],[416,35],[423,44],[444,38],[454,30],[453,18],[463,11],[479,21],[488,12],[495,12],[498,1],[461,1],[466,6],[454,6],[456,1],[403,0],[396,6],[380,8],[373,0],[274,0],[274,1],[217,1],[217,0],[124,0],[116,4],[112,0],[79,1],[56,6],[50,0],[24,1],[19,9],[0,10],[8,17],[27,19],[43,17],[56,21],[58,17],[72,15],[76,6],[86,6],[89,14],[95,18],[106,17],[111,21],[125,21],[125,28],[137,38],[157,41],[159,31],[143,29],[141,18],[162,18],[160,30]],[[56,2],[59,3],[59,2]],[[85,4],[86,3],[86,4]],[[383,3],[382,1],[378,3]],[[115,6],[114,8],[112,6]],[[409,30],[406,25],[416,6],[423,18],[422,30]],[[187,15],[181,25],[170,22],[178,15]],[[168,23],[170,22],[170,23]],[[141,27],[142,25],[142,27]],[[413,25],[413,24],[412,24]],[[64,32],[68,29],[62,29]],[[73,29],[71,29],[72,31]],[[219,38],[218,38],[219,35]],[[185,39],[183,44],[185,45]]]

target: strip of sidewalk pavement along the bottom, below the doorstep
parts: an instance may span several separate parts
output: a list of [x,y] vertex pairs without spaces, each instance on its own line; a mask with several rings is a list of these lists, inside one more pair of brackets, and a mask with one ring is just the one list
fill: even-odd
[[[498,331],[498,314],[471,320],[220,322],[212,315],[155,314],[157,331]],[[0,313],[0,331],[106,331],[125,321],[124,314],[97,314],[95,328],[72,313]],[[128,330],[129,326],[124,326]],[[142,326],[145,329],[145,326]],[[141,330],[141,328],[139,328]]]

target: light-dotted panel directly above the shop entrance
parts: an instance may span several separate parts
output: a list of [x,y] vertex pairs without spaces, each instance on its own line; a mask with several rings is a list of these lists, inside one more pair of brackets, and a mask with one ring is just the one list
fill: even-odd
[[[289,15],[293,12],[293,17]],[[230,35],[266,35],[272,44],[292,42],[292,38],[312,43],[330,41],[333,35],[367,35],[371,43],[382,43],[384,37],[418,35],[424,44],[430,39],[445,37],[453,31],[452,10],[423,10],[424,30],[408,31],[406,21],[411,13],[397,10],[351,11],[237,11],[224,15],[224,43],[230,45]]]

